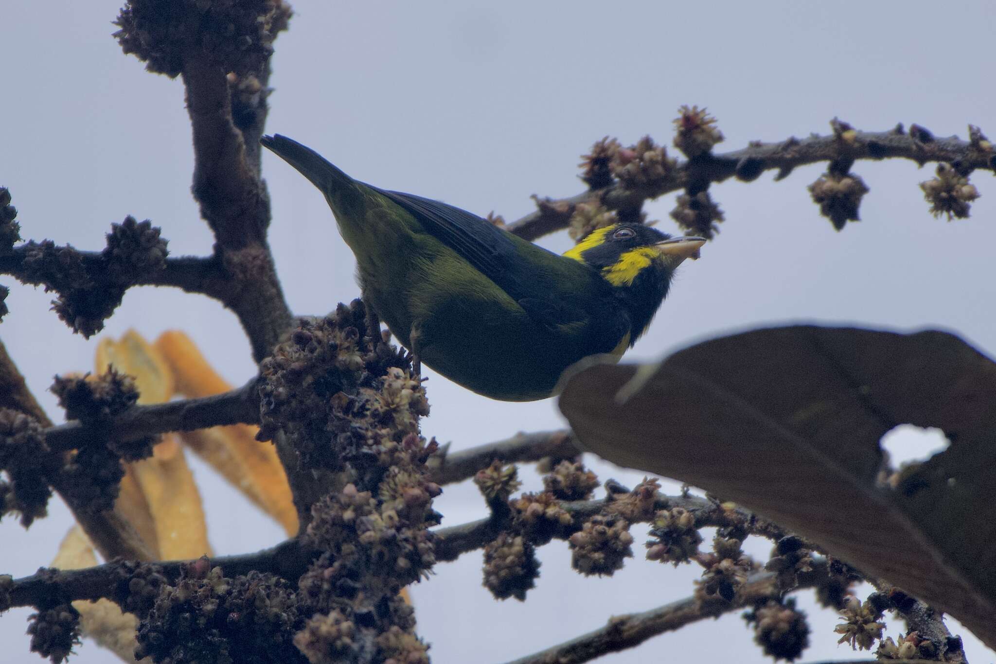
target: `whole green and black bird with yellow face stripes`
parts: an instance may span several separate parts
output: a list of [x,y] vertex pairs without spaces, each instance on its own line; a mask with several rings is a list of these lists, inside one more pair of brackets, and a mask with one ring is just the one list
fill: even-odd
[[495,399],[542,399],[578,360],[619,359],[705,243],[618,223],[558,256],[452,205],[354,180],[286,136],[262,143],[325,194],[390,332],[416,360]]

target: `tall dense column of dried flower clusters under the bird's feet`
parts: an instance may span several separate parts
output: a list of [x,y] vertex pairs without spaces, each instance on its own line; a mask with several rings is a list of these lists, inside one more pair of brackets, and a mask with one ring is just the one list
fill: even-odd
[[435,562],[427,528],[441,490],[425,461],[437,446],[418,433],[428,413],[420,382],[396,348],[367,333],[366,314],[354,301],[302,320],[261,366],[260,437],[283,431],[304,467],[345,483],[311,507],[302,536],[322,553],[298,582],[300,601],[307,617],[329,616],[297,637],[311,661],[352,648],[347,625],[376,635],[378,661],[418,661],[425,650],[398,593]]

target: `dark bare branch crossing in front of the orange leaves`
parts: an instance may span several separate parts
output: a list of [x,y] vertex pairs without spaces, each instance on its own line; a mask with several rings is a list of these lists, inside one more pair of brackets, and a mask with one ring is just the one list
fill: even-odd
[[[121,441],[166,433],[193,431],[212,426],[259,423],[257,379],[221,394],[131,406],[114,422],[112,435]],[[72,450],[87,440],[87,426],[76,420],[45,430],[45,441],[53,450]]]

